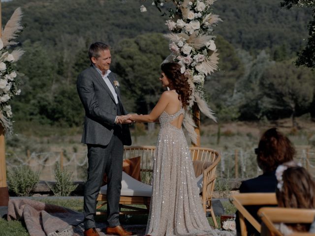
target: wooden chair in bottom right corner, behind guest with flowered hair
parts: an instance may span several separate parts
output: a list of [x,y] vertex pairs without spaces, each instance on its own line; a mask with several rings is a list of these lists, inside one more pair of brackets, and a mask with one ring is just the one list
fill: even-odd
[[[282,236],[275,223],[312,223],[315,217],[315,209],[262,207],[258,210],[258,216],[266,225],[271,236]],[[290,236],[311,236],[315,233],[293,232]]]

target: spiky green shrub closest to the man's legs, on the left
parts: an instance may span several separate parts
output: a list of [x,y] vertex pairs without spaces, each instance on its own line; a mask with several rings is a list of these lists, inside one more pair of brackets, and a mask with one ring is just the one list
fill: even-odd
[[53,191],[55,196],[69,196],[78,186],[72,182],[71,173],[65,168],[62,170],[59,163],[55,166],[54,174],[56,183],[53,186],[49,183],[47,183],[47,185]]

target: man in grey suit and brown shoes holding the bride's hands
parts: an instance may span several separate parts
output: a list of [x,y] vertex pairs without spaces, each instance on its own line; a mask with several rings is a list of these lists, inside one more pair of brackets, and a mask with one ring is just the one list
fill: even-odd
[[124,145],[131,145],[126,111],[116,75],[109,70],[109,46],[90,46],[91,66],[80,73],[77,90],[85,109],[82,143],[88,146],[88,178],[84,188],[84,235],[99,236],[95,230],[96,199],[104,172],[107,175],[106,234],[132,235],[119,222]]

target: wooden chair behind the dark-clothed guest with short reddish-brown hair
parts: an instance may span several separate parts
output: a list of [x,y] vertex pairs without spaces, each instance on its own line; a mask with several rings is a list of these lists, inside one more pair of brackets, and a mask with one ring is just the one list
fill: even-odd
[[241,235],[247,236],[245,219],[260,233],[261,226],[244,206],[250,205],[278,205],[275,193],[240,193],[232,194],[230,202],[238,209]]

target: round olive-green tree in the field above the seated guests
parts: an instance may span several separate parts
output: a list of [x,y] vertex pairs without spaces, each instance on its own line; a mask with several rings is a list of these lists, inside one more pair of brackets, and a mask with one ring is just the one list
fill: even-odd
[[270,99],[275,112],[289,111],[292,126],[298,110],[308,111],[314,93],[314,74],[297,68],[291,61],[276,62],[268,67],[260,80],[263,94]]

